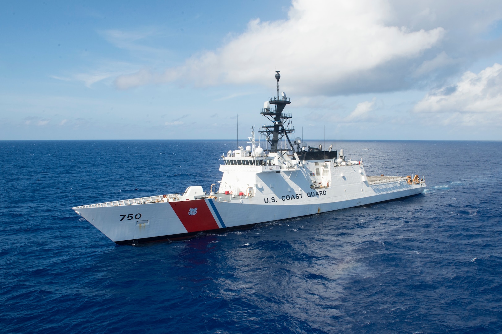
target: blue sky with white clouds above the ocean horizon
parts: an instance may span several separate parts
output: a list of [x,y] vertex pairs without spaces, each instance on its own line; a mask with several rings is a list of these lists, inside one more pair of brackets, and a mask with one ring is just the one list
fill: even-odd
[[498,1],[19,1],[0,11],[0,140],[502,140]]

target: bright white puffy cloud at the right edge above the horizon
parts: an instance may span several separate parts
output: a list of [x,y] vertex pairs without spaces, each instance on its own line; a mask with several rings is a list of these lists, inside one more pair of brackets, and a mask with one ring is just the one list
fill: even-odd
[[502,65],[465,72],[455,85],[429,92],[414,111],[434,113],[444,124],[502,123]]

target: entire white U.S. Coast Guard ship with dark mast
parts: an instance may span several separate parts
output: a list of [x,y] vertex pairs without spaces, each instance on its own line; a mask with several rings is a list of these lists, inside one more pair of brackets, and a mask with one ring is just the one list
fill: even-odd
[[[177,240],[200,232],[224,231],[420,194],[424,177],[367,176],[362,161],[346,160],[343,150],[311,148],[294,133],[291,101],[283,92],[265,102],[261,114],[271,125],[255,141],[223,156],[219,188],[190,186],[181,194],[115,200],[75,206],[73,210],[117,244]],[[274,105],[274,107],[271,107]],[[286,124],[290,124],[287,126]]]

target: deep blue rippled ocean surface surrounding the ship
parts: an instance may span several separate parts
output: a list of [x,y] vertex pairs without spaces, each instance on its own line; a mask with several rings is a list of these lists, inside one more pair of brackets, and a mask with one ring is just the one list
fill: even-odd
[[0,141],[1,332],[502,332],[502,142],[331,143],[427,188],[118,246],[71,207],[209,189],[235,141]]

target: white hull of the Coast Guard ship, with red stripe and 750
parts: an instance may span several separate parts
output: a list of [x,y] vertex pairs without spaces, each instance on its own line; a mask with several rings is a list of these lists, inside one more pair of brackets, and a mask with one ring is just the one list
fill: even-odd
[[[253,198],[233,197],[233,200],[201,198],[73,209],[116,244],[136,244],[187,239],[200,232],[220,233],[272,220],[413,196],[423,192],[425,183],[398,185],[396,182],[394,190],[380,193],[376,187],[368,188],[369,191],[356,195],[336,196],[333,189],[327,188],[311,190],[308,196],[304,193],[294,199],[295,195],[263,195]],[[272,201],[272,198],[277,199]]]

